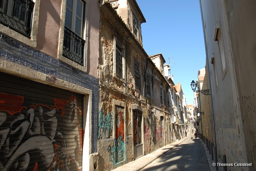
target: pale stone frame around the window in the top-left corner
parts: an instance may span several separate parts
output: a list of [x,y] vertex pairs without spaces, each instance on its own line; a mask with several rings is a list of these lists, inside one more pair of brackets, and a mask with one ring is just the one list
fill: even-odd
[[36,48],[40,0],[33,0],[33,2],[35,2],[35,5],[34,5],[34,10],[33,10],[33,19],[32,19],[31,37],[30,38],[23,36],[22,34],[16,32],[15,30],[12,30],[11,28],[6,27],[2,24],[0,24],[0,31],[10,37],[15,38],[17,41],[20,41],[28,46]]

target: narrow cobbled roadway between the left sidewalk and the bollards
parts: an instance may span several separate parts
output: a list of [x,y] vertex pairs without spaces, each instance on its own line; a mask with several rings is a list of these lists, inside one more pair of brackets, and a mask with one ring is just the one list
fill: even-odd
[[[192,134],[190,124],[188,138],[159,157],[141,171],[209,171],[207,156],[200,139]],[[193,139],[191,139],[193,137]]]

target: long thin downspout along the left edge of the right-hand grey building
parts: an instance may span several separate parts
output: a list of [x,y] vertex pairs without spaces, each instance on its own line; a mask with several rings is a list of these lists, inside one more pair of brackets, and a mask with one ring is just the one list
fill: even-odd
[[[213,121],[213,133],[214,133],[214,151],[215,151],[215,163],[218,163],[217,158],[217,145],[216,145],[216,132],[215,132],[215,122],[214,122],[214,111],[213,111],[213,98],[212,98],[212,92],[211,92],[211,79],[210,79],[210,68],[209,68],[209,60],[208,60],[208,49],[207,49],[207,42],[205,38],[205,30],[204,30],[204,18],[203,18],[203,11],[202,11],[202,3],[201,0],[199,0],[200,4],[200,11],[201,11],[201,17],[202,17],[202,26],[203,26],[203,33],[204,33],[204,46],[205,46],[205,55],[206,55],[206,63],[207,63],[207,69],[208,69],[208,80],[209,80],[209,87],[210,87],[210,96],[211,96],[211,113],[212,113],[212,121]],[[216,165],[216,170],[218,169],[218,165]]]

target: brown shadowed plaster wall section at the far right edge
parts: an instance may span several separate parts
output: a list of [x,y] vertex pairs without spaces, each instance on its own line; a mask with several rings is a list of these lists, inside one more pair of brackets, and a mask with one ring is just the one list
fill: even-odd
[[246,3],[225,0],[242,119],[242,129],[241,126],[237,129],[244,133],[245,139],[242,140],[245,141],[247,160],[253,163],[249,170],[256,170],[255,6],[253,0]]

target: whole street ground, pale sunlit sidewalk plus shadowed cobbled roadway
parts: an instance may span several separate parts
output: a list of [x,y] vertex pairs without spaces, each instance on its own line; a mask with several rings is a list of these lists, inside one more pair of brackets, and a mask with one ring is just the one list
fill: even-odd
[[[206,144],[195,139],[191,132],[179,141],[163,146],[135,161],[117,167],[113,171],[215,171],[214,160],[211,160]],[[191,139],[193,137],[193,139]],[[218,162],[221,160],[218,158]],[[223,167],[218,168],[223,171]]]

